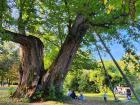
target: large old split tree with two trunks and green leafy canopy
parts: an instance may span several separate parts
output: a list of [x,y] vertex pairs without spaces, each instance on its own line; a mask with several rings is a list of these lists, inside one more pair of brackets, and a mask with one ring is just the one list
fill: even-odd
[[[139,0],[1,0],[1,39],[21,45],[20,81],[13,97],[31,98],[39,85],[44,96],[49,95],[52,86],[61,94],[85,34],[116,32],[120,27],[128,29],[131,24],[134,27],[139,19],[139,5]],[[49,35],[57,37],[60,50],[45,71],[41,40]],[[105,36],[110,38],[110,34]]]

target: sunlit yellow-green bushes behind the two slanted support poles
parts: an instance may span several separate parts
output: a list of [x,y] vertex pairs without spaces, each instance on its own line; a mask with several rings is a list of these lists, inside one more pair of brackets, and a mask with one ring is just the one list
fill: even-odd
[[[123,71],[126,73],[125,64],[122,61],[118,62]],[[105,61],[104,63],[109,73],[112,86],[127,86],[113,62]],[[126,73],[126,76],[131,78],[131,82],[136,81],[137,77],[133,75],[133,72],[130,74]],[[102,65],[98,63],[97,67],[94,69],[87,70],[81,68],[80,70],[74,69],[70,71],[65,80],[64,87],[65,89],[72,89],[75,91],[98,93],[104,91],[106,87],[110,88],[110,84],[108,78],[105,75],[105,71],[102,68]]]

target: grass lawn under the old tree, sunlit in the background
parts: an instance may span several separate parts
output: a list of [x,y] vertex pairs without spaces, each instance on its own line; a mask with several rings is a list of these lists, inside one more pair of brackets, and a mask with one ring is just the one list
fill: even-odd
[[[103,94],[85,93],[86,100],[81,102],[79,100],[66,100],[64,102],[47,101],[42,103],[21,103],[9,99],[9,90],[11,88],[0,87],[0,105],[139,105],[135,99],[127,102],[126,97],[123,95],[117,95],[119,102],[115,102],[111,93],[108,93],[108,102],[103,100]],[[79,94],[77,94],[79,95]]]

